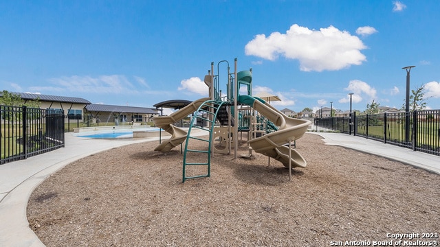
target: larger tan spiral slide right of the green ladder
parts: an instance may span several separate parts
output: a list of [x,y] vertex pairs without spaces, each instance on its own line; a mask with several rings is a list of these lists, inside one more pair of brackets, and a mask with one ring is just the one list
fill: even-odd
[[311,122],[305,119],[287,117],[270,104],[260,102],[259,100],[255,100],[252,107],[279,127],[276,132],[265,134],[263,137],[248,141],[252,149],[265,156],[275,158],[287,168],[289,167],[290,149],[292,167],[306,167],[307,162],[303,156],[285,144],[303,137]]

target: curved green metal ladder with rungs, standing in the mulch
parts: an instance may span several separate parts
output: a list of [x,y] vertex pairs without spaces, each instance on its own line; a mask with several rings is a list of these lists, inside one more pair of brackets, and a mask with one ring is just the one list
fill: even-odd
[[[190,128],[188,130],[188,135],[186,137],[186,143],[185,143],[185,152],[184,152],[184,167],[183,167],[183,183],[185,183],[185,180],[190,178],[203,178],[203,177],[209,177],[210,176],[210,170],[211,170],[211,142],[212,142],[212,130],[214,129],[214,123],[217,119],[217,113],[219,112],[219,109],[225,102],[221,101],[214,101],[214,100],[208,100],[206,102],[203,102],[201,106],[197,109],[195,117],[192,118]],[[198,113],[203,113],[201,116],[198,115]],[[206,113],[206,115],[205,115]],[[206,117],[205,117],[206,116]],[[203,126],[197,126],[197,120],[201,120],[203,123],[204,121],[210,123],[209,128],[203,128]],[[202,124],[203,125],[203,124]],[[199,137],[193,137],[191,136],[191,130],[192,128],[197,128],[203,131],[209,132],[208,139],[203,139]],[[208,134],[208,133],[207,133]],[[208,150],[191,150],[188,149],[188,143],[190,143],[191,140],[197,140],[197,141],[204,141],[208,143]],[[197,163],[195,161],[188,161],[190,157],[188,157],[188,154],[190,153],[199,153],[200,155],[206,155],[206,162],[203,163]],[[186,167],[188,165],[206,165],[207,166],[207,172],[206,174],[197,175],[197,176],[186,176]]]

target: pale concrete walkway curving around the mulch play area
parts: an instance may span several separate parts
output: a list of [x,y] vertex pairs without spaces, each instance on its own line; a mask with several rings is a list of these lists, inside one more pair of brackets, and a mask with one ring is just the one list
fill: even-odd
[[[440,174],[440,156],[414,152],[406,148],[348,134],[319,134],[328,145],[340,145],[368,152]],[[0,165],[0,246],[44,246],[28,226],[26,208],[32,191],[50,174],[79,158],[122,145],[157,141],[148,139],[85,139],[65,134],[65,148]],[[307,157],[306,157],[307,159]]]

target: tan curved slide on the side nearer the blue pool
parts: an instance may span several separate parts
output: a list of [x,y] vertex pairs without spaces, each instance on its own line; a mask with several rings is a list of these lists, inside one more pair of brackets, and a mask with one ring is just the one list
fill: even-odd
[[173,126],[173,124],[181,119],[184,119],[184,117],[190,115],[191,113],[194,113],[199,106],[201,106],[201,104],[207,100],[209,100],[208,97],[197,99],[196,101],[188,104],[188,106],[177,110],[177,112],[169,116],[153,117],[154,124],[157,127],[162,128],[171,134],[170,139],[163,140],[162,143],[155,148],[155,151],[170,152],[170,150],[175,148],[177,145],[183,143],[186,140],[186,135],[188,133],[181,128]]

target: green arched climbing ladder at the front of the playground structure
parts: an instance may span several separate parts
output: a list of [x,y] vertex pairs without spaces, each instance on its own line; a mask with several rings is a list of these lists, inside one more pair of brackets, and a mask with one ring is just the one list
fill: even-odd
[[[206,102],[203,102],[203,104],[199,106],[199,109],[197,109],[197,113],[202,112],[203,114],[196,114],[196,117],[192,118],[185,144],[182,182],[185,182],[185,180],[190,178],[203,178],[210,176],[212,132],[214,129],[215,119],[217,119],[217,114],[219,113],[219,110],[222,108],[222,106],[223,102],[208,100]],[[208,123],[208,128],[197,126],[197,122]],[[208,138],[203,138],[203,136],[200,137],[200,135],[198,135],[198,137],[192,136],[191,132],[193,128],[206,131],[206,134],[208,134]],[[199,141],[207,143],[208,149],[197,150],[191,148],[192,143]]]

